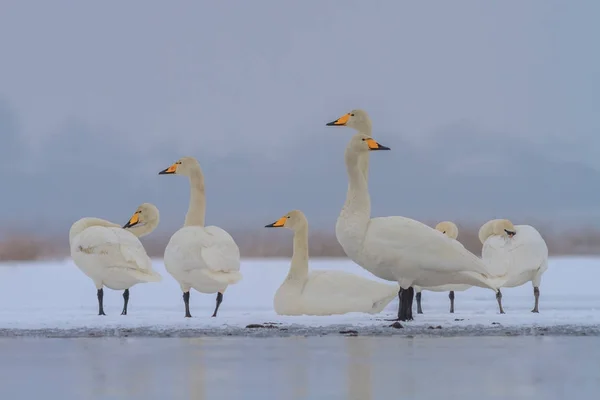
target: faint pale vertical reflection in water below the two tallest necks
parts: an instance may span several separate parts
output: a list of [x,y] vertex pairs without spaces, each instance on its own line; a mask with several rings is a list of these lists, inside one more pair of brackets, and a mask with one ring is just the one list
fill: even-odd
[[345,338],[349,359],[348,399],[371,400],[371,347],[365,338]]

